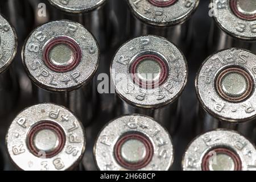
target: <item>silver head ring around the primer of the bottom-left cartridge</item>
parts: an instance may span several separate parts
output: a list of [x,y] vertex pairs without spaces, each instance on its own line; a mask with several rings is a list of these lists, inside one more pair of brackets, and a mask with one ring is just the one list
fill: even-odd
[[[47,158],[46,151],[34,155],[27,144],[31,129],[43,121],[58,125],[65,136],[63,150],[50,158]],[[19,169],[67,170],[75,168],[84,154],[85,133],[81,122],[65,107],[39,104],[24,109],[16,116],[6,135],[6,146],[11,160]]]

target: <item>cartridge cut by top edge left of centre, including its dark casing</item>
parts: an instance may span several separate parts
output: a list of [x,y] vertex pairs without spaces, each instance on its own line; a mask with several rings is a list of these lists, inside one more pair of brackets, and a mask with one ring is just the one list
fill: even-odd
[[[123,0],[48,0],[53,20],[69,19],[81,23],[100,43],[102,52],[125,36],[126,7]],[[59,10],[59,11],[58,11]],[[121,12],[120,12],[121,11]]]

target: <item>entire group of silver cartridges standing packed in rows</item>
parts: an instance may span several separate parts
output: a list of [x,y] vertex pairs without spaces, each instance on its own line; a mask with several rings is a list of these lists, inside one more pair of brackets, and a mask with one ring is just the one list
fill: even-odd
[[[172,169],[199,3],[1,0],[0,169]],[[180,168],[256,170],[256,3],[208,3]]]

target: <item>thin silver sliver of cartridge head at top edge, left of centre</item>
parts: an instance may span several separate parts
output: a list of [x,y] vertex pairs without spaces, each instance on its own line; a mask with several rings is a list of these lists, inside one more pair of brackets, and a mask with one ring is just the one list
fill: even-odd
[[75,1],[59,1],[59,0],[48,0],[51,5],[55,6],[61,11],[66,11],[68,13],[89,13],[93,10],[100,8],[106,0],[75,0]]

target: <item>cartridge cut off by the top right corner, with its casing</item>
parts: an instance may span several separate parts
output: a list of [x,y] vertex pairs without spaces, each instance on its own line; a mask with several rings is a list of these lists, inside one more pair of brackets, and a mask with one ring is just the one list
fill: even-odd
[[255,0],[212,0],[213,19],[209,51],[244,48],[256,53]]

